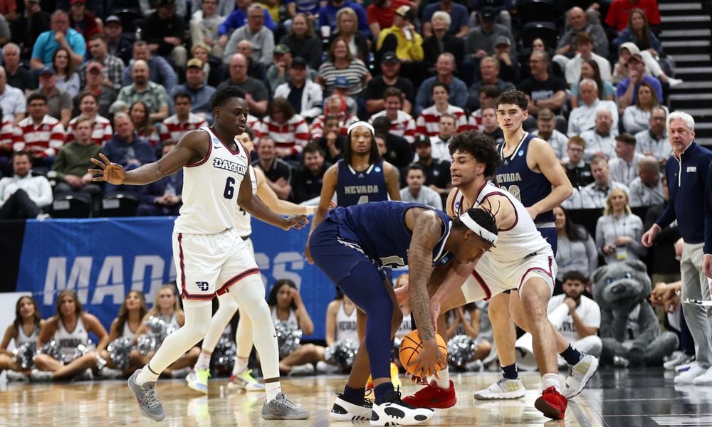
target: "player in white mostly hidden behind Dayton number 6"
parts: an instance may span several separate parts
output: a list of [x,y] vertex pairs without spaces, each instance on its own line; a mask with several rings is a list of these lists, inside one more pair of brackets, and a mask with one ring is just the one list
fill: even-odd
[[[252,142],[253,135],[250,129],[245,130],[236,139],[245,147],[246,152],[251,152],[254,144]],[[278,214],[313,214],[315,206],[300,206],[293,204],[290,201],[281,200],[277,194],[267,184],[264,172],[262,169],[248,166],[250,181],[252,183],[252,194],[256,194],[270,209]],[[235,228],[240,238],[245,242],[248,251],[252,258],[255,256],[255,251],[252,246],[251,216],[244,209],[238,209],[237,222]],[[208,333],[203,339],[203,344],[198,357],[198,362],[195,364],[193,371],[188,374],[186,381],[188,386],[195,391],[208,393],[208,378],[210,376],[210,357],[215,350],[218,341],[223,334],[225,328],[229,324],[232,317],[237,312],[237,302],[230,295],[218,295],[219,308],[213,315],[210,321]],[[235,364],[228,383],[229,389],[244,390],[244,391],[263,391],[264,386],[256,381],[251,375],[251,371],[247,369],[247,362],[252,352],[252,322],[250,317],[245,312],[240,313],[240,320],[237,324],[235,334],[236,342],[236,357]]]

